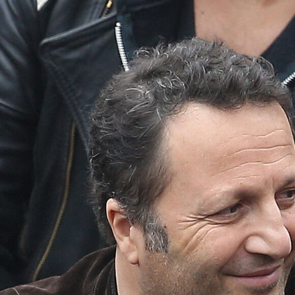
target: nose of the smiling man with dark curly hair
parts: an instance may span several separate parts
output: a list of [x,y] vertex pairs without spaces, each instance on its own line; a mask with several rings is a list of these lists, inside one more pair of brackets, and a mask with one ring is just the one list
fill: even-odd
[[246,251],[281,259],[290,254],[291,248],[291,237],[277,204],[269,206],[267,210],[260,210],[249,225]]

